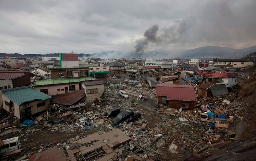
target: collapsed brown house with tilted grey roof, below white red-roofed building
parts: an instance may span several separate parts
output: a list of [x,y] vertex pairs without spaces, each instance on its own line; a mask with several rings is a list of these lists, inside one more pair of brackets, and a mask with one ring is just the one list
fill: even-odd
[[199,96],[216,97],[218,95],[229,94],[227,87],[221,83],[208,82],[200,85],[197,89]]

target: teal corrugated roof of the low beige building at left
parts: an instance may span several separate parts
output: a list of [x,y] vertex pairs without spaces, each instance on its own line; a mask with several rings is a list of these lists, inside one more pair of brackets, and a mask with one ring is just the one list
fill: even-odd
[[51,98],[51,96],[44,94],[43,92],[39,92],[35,89],[32,89],[30,86],[18,87],[3,90],[3,95],[9,98],[14,103],[19,106],[25,103],[37,101],[37,100],[47,100]]

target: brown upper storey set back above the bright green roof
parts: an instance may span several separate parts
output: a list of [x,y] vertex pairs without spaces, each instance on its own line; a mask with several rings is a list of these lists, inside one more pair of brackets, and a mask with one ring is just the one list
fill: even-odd
[[89,67],[50,68],[51,79],[80,78],[89,76]]

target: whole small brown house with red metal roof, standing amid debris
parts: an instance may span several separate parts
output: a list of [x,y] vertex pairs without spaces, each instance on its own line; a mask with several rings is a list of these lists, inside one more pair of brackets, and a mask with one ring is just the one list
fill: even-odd
[[193,110],[197,101],[194,87],[190,84],[157,84],[157,104],[168,104],[175,109]]

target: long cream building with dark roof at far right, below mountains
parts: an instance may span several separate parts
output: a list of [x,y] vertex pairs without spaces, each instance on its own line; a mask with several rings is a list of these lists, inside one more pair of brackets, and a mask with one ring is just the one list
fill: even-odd
[[244,68],[245,66],[255,66],[255,62],[247,59],[219,59],[213,60],[213,66],[231,64],[233,68]]

